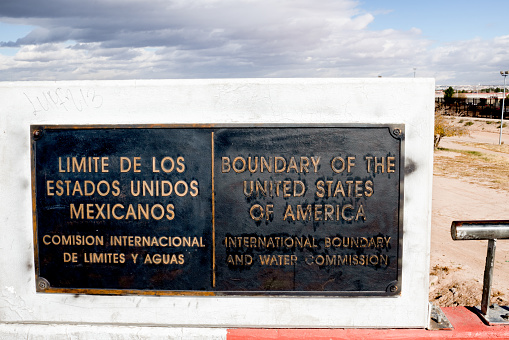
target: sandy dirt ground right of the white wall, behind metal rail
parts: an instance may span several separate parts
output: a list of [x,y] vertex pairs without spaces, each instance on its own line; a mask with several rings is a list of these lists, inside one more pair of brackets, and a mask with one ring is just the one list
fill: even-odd
[[[487,241],[453,241],[451,223],[509,220],[509,145],[498,145],[498,120],[449,119],[469,135],[446,137],[435,151],[429,297],[442,307],[476,306]],[[502,141],[509,144],[509,126],[503,131]],[[491,302],[509,305],[509,240],[498,240],[496,247]]]

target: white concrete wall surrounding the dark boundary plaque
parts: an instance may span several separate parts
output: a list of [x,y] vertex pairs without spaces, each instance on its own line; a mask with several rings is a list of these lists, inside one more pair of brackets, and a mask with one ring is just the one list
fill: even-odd
[[[47,332],[44,334],[79,332],[82,325],[95,327],[83,334],[95,330],[105,339],[117,331],[120,338],[128,338],[136,332],[150,334],[146,332],[151,329],[158,336],[199,338],[207,333],[202,327],[219,328],[207,333],[211,337],[223,336],[227,327],[425,327],[433,111],[434,81],[419,78],[0,83],[0,338],[16,334],[16,330],[25,335],[37,333],[37,329]],[[30,125],[152,123],[405,124],[405,160],[411,171],[404,180],[401,295],[296,298],[36,293]],[[160,328],[146,326],[173,328],[160,333]]]

